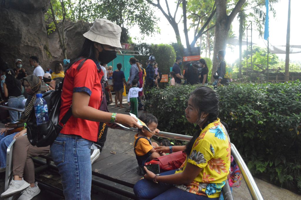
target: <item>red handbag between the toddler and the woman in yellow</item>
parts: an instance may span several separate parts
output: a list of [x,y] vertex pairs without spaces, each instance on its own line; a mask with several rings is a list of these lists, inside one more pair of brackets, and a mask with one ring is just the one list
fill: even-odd
[[164,172],[180,168],[185,159],[186,153],[178,151],[155,158],[150,162],[146,162],[144,165],[159,164],[160,172]]

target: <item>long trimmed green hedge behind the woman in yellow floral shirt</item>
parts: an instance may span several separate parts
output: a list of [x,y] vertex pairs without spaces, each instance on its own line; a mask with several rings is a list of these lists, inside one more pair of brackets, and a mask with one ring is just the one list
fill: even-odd
[[[159,129],[191,135],[184,110],[197,85],[150,91],[147,111]],[[253,175],[301,192],[301,83],[233,84],[219,87],[219,117]]]

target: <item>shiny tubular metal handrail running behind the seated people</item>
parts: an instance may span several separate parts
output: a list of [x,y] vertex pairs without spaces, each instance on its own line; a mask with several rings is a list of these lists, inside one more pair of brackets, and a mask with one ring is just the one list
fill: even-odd
[[[8,106],[1,106],[1,105],[0,105],[0,108],[7,109],[7,110],[19,111],[19,112],[24,111],[24,109],[11,108]],[[131,129],[134,131],[138,131],[137,128],[131,128]],[[129,130],[127,130],[127,131],[129,131]],[[192,138],[192,136],[180,135],[180,134],[169,133],[169,132],[164,132],[164,131],[160,131],[159,133],[156,133],[155,136],[163,137],[163,138],[170,138],[170,139],[174,139],[174,140],[187,141],[187,142],[190,141]],[[244,162],[243,158],[240,156],[239,152],[237,151],[237,149],[233,143],[231,143],[231,154],[233,155],[233,158],[234,158],[235,162],[237,163],[237,166],[239,167],[241,174],[244,177],[244,180],[249,189],[252,199],[253,200],[264,200],[258,186],[256,185],[256,182],[255,182],[251,172],[249,171],[246,163]]]

